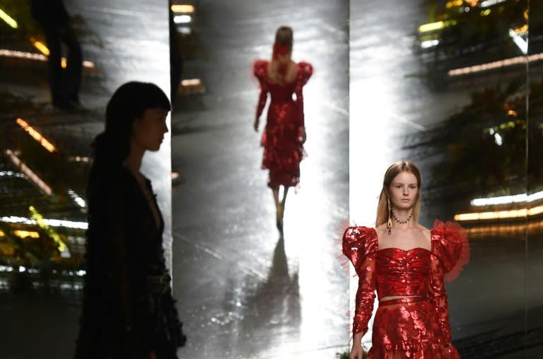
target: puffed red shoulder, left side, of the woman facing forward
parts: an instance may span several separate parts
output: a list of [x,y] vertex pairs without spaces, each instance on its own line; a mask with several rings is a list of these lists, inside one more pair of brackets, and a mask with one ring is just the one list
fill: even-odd
[[377,232],[374,228],[351,226],[347,227],[343,233],[341,241],[343,254],[349,258],[358,273],[363,261],[370,254],[374,254],[378,249]]

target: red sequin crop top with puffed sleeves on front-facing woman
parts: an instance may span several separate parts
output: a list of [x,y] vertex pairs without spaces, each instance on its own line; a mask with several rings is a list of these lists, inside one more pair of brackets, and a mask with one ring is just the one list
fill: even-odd
[[[450,344],[445,281],[456,278],[469,261],[469,242],[460,225],[440,220],[436,220],[431,228],[430,237],[431,250],[379,249],[374,228],[346,228],[342,239],[343,254],[358,274],[354,334],[368,330],[375,291],[379,298],[420,295],[435,307],[436,317],[432,320],[440,326],[446,344]],[[390,323],[396,324],[397,321]]]

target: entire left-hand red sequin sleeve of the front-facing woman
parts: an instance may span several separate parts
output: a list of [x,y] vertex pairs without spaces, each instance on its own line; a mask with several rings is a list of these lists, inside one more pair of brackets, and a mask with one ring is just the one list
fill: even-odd
[[366,334],[375,300],[377,232],[373,228],[349,227],[344,232],[342,246],[343,254],[349,258],[358,274],[353,334]]

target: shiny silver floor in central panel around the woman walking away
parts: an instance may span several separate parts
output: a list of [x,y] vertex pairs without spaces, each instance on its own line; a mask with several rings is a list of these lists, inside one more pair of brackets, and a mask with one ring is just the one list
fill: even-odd
[[[349,341],[347,276],[332,245],[347,216],[346,5],[198,4],[202,49],[183,76],[201,78],[207,92],[179,98],[173,116],[174,293],[189,337],[180,355],[335,358]],[[251,66],[270,57],[284,23],[294,30],[293,59],[315,73],[304,88],[309,157],[298,194],[288,194],[281,239],[252,129]]]

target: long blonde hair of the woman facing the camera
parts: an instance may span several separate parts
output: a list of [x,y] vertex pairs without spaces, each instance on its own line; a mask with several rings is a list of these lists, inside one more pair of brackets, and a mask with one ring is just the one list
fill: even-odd
[[379,195],[379,203],[377,205],[377,218],[375,218],[375,228],[387,223],[388,218],[392,215],[390,211],[392,208],[388,207],[389,189],[392,180],[402,172],[412,173],[416,177],[416,184],[419,187],[419,192],[416,195],[415,208],[413,209],[413,220],[419,219],[419,211],[421,209],[421,172],[414,163],[408,160],[400,160],[397,163],[388,167],[385,172],[385,178],[383,178],[383,189]]

